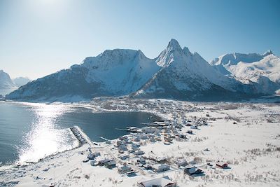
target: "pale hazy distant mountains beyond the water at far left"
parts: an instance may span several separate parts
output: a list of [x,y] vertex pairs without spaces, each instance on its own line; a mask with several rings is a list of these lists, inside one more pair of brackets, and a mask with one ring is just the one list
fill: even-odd
[[18,77],[15,79],[11,79],[9,74],[0,70],[0,95],[6,95],[13,90],[18,89],[20,86],[28,83],[29,78]]

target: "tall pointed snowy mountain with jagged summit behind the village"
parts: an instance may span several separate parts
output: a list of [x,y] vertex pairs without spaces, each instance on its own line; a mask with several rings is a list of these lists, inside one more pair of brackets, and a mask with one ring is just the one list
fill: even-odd
[[234,78],[224,76],[198,53],[181,48],[174,39],[156,62],[162,68],[134,96],[211,100],[239,97],[253,88],[253,85],[244,88]]

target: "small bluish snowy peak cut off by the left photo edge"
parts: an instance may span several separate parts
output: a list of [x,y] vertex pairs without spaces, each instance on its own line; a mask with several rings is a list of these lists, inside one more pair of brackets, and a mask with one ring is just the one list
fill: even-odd
[[17,88],[18,86],[13,83],[10,76],[3,70],[0,70],[0,95],[6,95]]

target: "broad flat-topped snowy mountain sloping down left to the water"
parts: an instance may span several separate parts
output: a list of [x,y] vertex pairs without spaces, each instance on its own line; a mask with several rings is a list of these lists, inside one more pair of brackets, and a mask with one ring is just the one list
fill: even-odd
[[9,99],[83,100],[137,91],[160,67],[141,50],[105,50],[80,65],[31,81]]

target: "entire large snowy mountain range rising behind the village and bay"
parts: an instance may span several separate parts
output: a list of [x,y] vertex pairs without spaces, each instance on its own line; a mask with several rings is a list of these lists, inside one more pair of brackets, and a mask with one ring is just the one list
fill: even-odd
[[243,99],[279,90],[280,58],[270,51],[227,54],[208,63],[172,39],[155,59],[141,50],[105,50],[23,85],[7,99],[80,101],[127,95],[188,100]]

